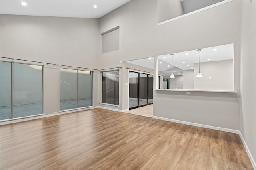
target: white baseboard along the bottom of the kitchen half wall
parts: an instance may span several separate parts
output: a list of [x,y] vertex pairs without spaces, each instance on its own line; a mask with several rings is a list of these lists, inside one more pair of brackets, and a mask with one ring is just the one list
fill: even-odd
[[224,132],[230,132],[230,133],[236,133],[236,134],[239,134],[239,132],[240,132],[239,130],[234,130],[234,129],[230,129],[230,128],[214,127],[214,126],[210,126],[210,125],[203,125],[203,124],[199,124],[199,123],[179,121],[179,120],[176,120],[176,119],[169,119],[169,118],[165,118],[165,117],[153,116],[153,118],[164,120],[164,121],[182,123],[182,124],[185,124],[185,125],[192,125],[192,126],[196,126],[196,127],[203,127],[203,128],[214,129],[214,130],[221,130],[221,131],[224,131]]

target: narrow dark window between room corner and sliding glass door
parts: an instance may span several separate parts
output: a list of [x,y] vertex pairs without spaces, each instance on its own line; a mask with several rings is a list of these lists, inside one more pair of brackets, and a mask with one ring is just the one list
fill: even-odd
[[102,72],[102,103],[119,105],[119,71]]

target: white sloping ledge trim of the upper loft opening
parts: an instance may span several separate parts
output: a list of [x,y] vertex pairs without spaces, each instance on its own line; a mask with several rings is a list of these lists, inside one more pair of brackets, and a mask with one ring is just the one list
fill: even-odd
[[216,6],[219,6],[219,5],[222,5],[222,4],[226,4],[226,3],[232,2],[232,1],[234,1],[234,0],[224,0],[224,1],[222,1],[222,2],[218,2],[218,3],[216,3],[216,4],[212,4],[212,5],[210,5],[210,6],[206,6],[206,7],[204,7],[204,8],[201,8],[201,9],[199,9],[199,10],[195,10],[195,11],[189,12],[189,13],[187,13],[187,14],[184,14],[184,15],[181,15],[181,16],[177,16],[177,17],[172,18],[172,19],[170,19],[170,20],[166,20],[166,21],[160,22],[160,23],[158,23],[157,25],[160,26],[160,25],[166,24],[166,23],[168,23],[168,22],[172,22],[172,21],[174,21],[174,20],[178,20],[178,19],[180,19],[180,18],[184,18],[184,17],[186,17],[186,16],[190,16],[190,15],[192,15],[192,14],[196,14],[196,13],[198,13],[198,12],[201,12],[201,11],[204,11],[204,10],[208,10],[208,9],[210,9],[210,8],[214,8],[214,7],[216,7]]

